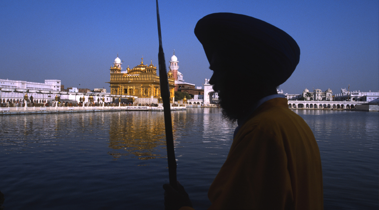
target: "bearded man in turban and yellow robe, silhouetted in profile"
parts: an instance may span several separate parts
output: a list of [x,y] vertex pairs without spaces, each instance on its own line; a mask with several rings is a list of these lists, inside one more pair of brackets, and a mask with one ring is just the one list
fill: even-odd
[[[209,209],[323,209],[315,137],[276,91],[299,63],[295,40],[267,22],[234,13],[206,15],[194,32],[213,71],[209,84],[222,114],[238,123],[209,188]],[[191,209],[183,186],[164,189],[166,209]]]

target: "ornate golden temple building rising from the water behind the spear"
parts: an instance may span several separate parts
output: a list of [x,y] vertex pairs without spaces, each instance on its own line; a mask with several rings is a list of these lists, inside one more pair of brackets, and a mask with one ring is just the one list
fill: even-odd
[[[136,99],[135,104],[158,104],[161,96],[159,76],[157,76],[157,67],[151,62],[150,65],[141,64],[133,69],[122,71],[122,62],[117,55],[113,66],[110,68],[111,95],[122,95]],[[173,72],[168,73],[171,100],[174,101],[175,82]]]

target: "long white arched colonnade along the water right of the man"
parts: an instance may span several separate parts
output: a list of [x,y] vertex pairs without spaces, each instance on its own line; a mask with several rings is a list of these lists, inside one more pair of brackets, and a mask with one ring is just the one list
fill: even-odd
[[368,102],[338,102],[338,101],[288,101],[289,108],[327,108],[327,109],[352,109],[356,105],[364,105]]

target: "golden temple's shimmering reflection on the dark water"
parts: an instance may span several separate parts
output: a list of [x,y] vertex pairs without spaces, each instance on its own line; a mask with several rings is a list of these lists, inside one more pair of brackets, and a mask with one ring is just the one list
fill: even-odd
[[127,111],[112,114],[109,136],[109,147],[113,151],[108,154],[114,158],[133,155],[131,157],[148,160],[166,156],[163,112]]

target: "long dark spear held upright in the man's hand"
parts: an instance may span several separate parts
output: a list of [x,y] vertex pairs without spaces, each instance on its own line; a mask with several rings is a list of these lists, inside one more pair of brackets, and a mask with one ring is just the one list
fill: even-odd
[[170,185],[178,190],[177,185],[177,161],[175,160],[173,125],[171,124],[171,108],[170,108],[170,88],[169,79],[166,71],[165,53],[162,47],[161,20],[159,18],[159,8],[157,0],[157,20],[158,20],[158,36],[159,36],[159,81],[161,84],[161,97],[163,101],[163,109],[165,115],[166,145],[167,158],[169,163],[169,179]]

